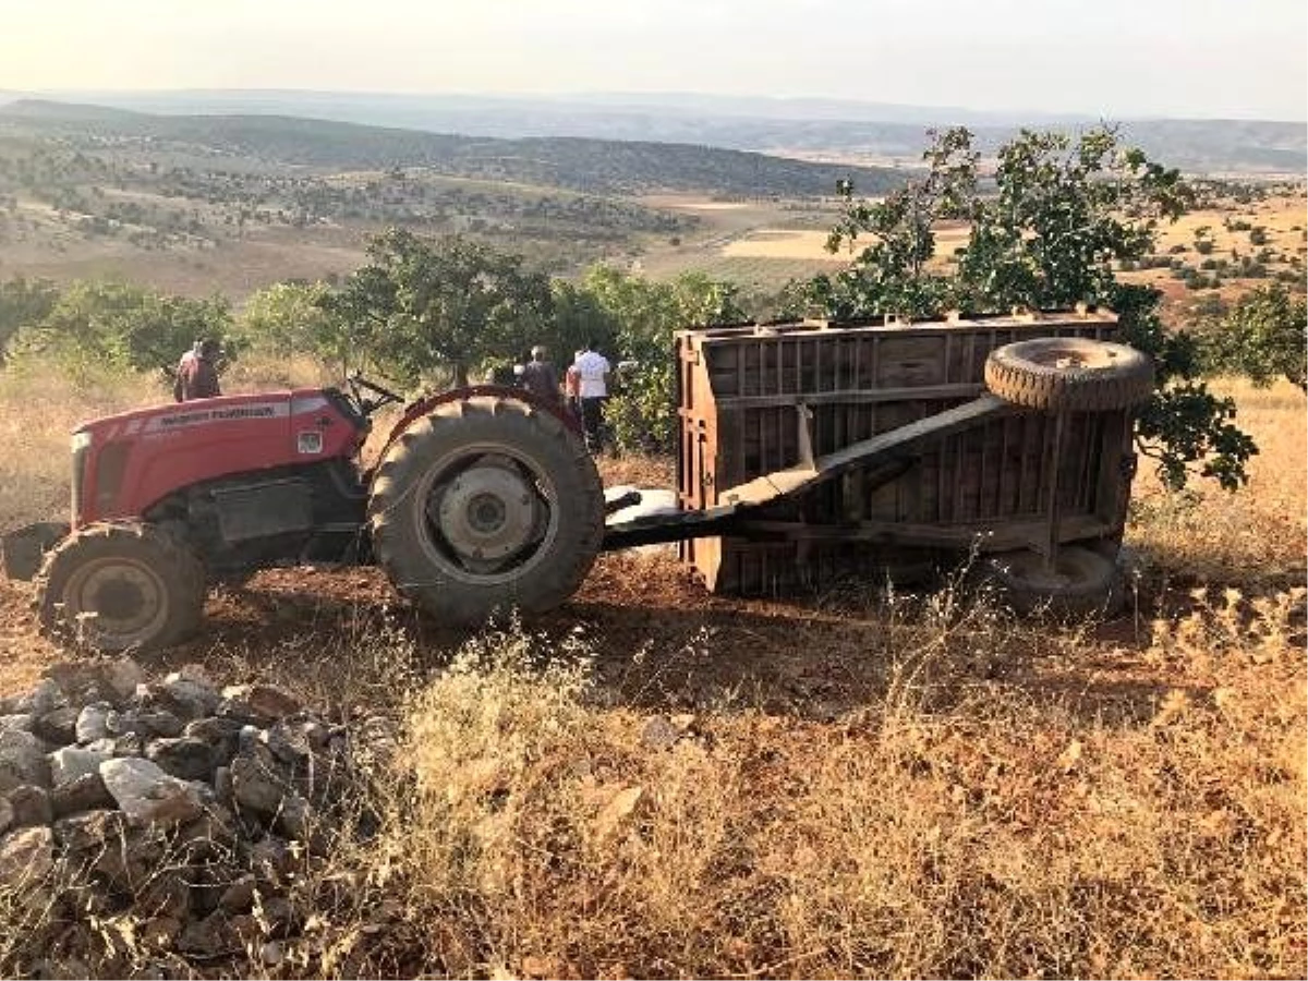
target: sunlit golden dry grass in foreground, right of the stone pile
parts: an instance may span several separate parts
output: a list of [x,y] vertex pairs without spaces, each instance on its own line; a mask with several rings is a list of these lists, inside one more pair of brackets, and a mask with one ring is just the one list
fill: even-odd
[[883,697],[833,725],[651,722],[583,651],[506,633],[412,702],[381,867],[449,973],[1296,974],[1308,684],[1266,642],[1287,610],[1156,625],[1150,658],[1223,684],[1129,723],[984,683],[930,708],[965,671],[933,640],[1022,657],[976,611],[901,632]]

